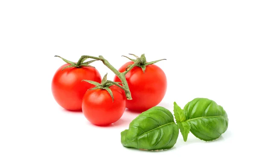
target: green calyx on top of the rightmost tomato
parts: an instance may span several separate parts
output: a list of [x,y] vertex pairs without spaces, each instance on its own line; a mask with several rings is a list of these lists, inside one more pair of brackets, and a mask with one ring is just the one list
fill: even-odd
[[[137,55],[134,55],[134,54],[130,54],[130,55],[133,55],[136,59],[131,59],[125,55],[122,55],[122,56],[128,58],[129,60],[133,61],[134,63],[136,61],[139,61],[139,64],[137,64],[136,66],[141,67],[141,69],[143,70],[143,73],[145,72],[147,65],[155,64],[159,61],[166,60],[166,59],[161,59],[161,60],[157,60],[157,61],[147,62],[147,60],[145,58],[145,54],[142,54],[140,57],[138,57]],[[126,70],[128,70],[131,66],[132,65],[128,65],[128,67],[126,67]]]

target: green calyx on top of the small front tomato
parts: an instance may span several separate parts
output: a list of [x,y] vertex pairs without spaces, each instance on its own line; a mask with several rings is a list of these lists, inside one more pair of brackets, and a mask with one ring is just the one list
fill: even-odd
[[112,85],[116,85],[116,86],[120,87],[122,90],[125,90],[125,91],[127,91],[127,90],[120,85],[120,84],[122,84],[121,82],[114,82],[114,81],[107,80],[107,75],[108,75],[108,73],[103,77],[101,83],[98,83],[96,81],[89,81],[89,80],[82,80],[82,81],[87,81],[88,83],[95,85],[95,87],[93,87],[89,90],[96,90],[96,89],[107,90],[112,98],[112,101],[114,102],[113,92],[109,87],[111,87]]

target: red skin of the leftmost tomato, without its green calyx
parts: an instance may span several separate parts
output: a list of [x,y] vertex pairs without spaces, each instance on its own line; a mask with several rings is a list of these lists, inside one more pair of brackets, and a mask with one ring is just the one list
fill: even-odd
[[70,64],[61,66],[52,78],[52,95],[57,103],[67,110],[81,110],[84,93],[93,86],[92,80],[101,82],[101,76],[93,67],[71,67],[62,70]]

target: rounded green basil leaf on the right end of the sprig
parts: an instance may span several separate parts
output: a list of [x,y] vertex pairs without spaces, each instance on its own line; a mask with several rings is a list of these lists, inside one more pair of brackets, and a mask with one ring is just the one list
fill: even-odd
[[223,107],[208,98],[195,98],[184,107],[190,131],[204,141],[218,139],[227,130],[228,118]]

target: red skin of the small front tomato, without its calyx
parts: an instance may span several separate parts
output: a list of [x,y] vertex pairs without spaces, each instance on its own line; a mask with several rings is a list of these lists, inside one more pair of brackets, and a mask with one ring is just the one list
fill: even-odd
[[114,101],[107,90],[88,90],[82,101],[82,111],[86,119],[94,125],[110,125],[119,120],[125,111],[124,91],[113,85]]

